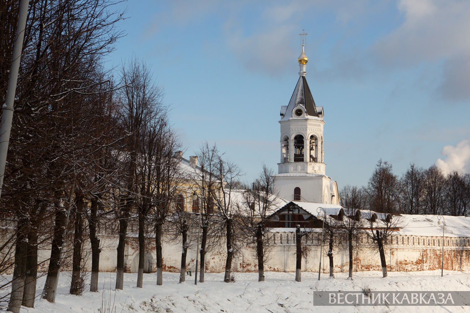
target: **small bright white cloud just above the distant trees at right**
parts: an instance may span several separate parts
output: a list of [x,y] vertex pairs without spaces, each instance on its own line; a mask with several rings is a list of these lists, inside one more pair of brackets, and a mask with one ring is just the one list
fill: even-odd
[[468,172],[470,168],[470,144],[469,140],[462,140],[457,145],[446,145],[441,152],[446,156],[445,160],[438,159],[436,166],[446,174],[452,171]]

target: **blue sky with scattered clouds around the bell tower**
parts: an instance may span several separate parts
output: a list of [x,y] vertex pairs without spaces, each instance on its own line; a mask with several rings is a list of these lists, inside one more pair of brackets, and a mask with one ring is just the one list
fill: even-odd
[[[152,65],[193,155],[216,142],[251,181],[277,171],[279,111],[298,80],[325,110],[327,175],[364,185],[380,158],[401,174],[438,159],[470,169],[468,1],[126,1],[108,66]],[[446,147],[446,149],[443,149]],[[441,154],[441,153],[444,153]]]

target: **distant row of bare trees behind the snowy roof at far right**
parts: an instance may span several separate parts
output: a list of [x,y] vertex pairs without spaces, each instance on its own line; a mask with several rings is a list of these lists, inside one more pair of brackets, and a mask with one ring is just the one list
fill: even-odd
[[379,160],[368,181],[358,192],[371,210],[380,213],[466,215],[470,204],[470,174],[447,175],[432,165],[414,163],[399,177],[392,164]]

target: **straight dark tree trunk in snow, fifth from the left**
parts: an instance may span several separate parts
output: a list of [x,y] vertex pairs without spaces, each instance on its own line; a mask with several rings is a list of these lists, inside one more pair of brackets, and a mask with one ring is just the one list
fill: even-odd
[[90,229],[90,243],[91,243],[91,278],[90,278],[90,291],[98,291],[98,273],[100,271],[100,239],[96,236],[96,224],[98,222],[98,198],[94,197],[91,200],[90,220],[88,221],[88,228]]

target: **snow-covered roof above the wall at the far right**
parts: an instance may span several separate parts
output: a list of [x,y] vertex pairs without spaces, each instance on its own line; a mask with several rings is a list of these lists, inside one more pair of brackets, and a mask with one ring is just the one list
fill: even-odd
[[[402,214],[399,221],[399,235],[442,236],[442,218],[438,225],[438,215]],[[444,216],[446,226],[445,237],[470,237],[470,217]]]

